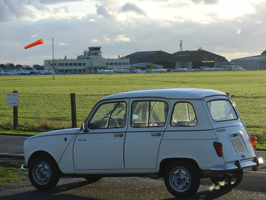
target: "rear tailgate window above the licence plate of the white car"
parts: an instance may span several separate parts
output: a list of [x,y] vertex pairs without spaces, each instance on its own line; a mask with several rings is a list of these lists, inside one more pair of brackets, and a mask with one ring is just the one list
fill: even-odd
[[213,100],[207,102],[214,121],[234,120],[238,116],[229,100]]

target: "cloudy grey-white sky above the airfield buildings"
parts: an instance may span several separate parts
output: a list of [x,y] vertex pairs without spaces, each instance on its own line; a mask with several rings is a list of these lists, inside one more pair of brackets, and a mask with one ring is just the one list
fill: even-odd
[[[266,0],[0,0],[0,63],[76,58],[88,46],[117,58],[136,51],[204,50],[228,60],[266,49]],[[43,44],[24,49],[43,39]]]

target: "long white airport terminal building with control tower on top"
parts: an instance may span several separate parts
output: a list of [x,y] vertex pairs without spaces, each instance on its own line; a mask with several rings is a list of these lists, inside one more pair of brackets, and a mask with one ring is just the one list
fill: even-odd
[[77,55],[76,59],[44,60],[44,69],[53,70],[55,73],[96,73],[98,69],[116,68],[131,69],[127,58],[104,58],[101,55],[101,46],[90,46],[84,50],[83,55]]

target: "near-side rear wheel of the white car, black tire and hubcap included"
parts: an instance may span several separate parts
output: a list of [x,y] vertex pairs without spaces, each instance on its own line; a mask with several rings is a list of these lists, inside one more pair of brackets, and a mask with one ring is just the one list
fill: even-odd
[[176,197],[188,197],[200,186],[200,175],[195,164],[189,161],[175,161],[165,170],[164,182],[167,190]]

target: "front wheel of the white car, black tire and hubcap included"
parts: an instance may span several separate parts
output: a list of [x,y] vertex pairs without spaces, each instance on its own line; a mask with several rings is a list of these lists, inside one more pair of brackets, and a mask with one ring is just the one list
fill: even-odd
[[29,163],[28,176],[37,189],[51,189],[59,180],[59,169],[51,156],[39,155]]

